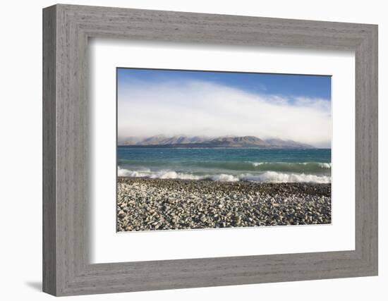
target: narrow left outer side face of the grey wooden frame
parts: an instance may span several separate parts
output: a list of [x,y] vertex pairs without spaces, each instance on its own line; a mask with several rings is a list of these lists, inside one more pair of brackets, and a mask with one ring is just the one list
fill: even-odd
[[56,9],[43,14],[43,290],[56,293]]

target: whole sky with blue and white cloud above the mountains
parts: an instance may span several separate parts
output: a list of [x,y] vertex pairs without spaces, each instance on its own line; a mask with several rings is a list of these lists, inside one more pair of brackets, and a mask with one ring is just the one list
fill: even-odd
[[117,68],[119,137],[254,135],[331,145],[331,77]]

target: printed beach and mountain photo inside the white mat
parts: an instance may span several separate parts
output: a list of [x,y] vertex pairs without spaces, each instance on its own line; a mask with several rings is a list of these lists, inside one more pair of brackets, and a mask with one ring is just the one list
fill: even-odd
[[116,68],[117,231],[331,223],[331,80]]

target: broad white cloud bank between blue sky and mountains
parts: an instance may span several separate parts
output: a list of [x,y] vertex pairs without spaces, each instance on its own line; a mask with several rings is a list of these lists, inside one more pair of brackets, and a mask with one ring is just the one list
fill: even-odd
[[119,87],[119,136],[254,135],[329,147],[331,103],[250,94],[209,82]]

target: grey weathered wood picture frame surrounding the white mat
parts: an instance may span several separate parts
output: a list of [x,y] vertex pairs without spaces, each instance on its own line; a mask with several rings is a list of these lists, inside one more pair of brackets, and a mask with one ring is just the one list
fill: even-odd
[[[356,250],[88,262],[87,39],[356,53]],[[377,25],[56,5],[43,10],[43,290],[52,295],[377,275]]]

